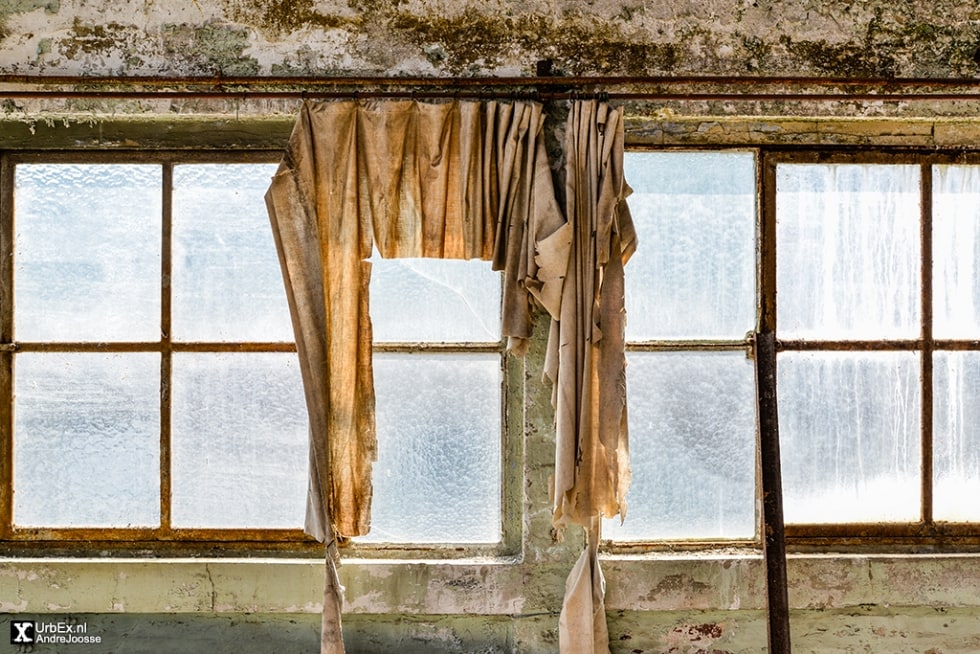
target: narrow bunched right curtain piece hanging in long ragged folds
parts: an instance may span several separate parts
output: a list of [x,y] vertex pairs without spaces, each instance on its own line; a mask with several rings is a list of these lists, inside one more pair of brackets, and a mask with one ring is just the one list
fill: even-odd
[[554,523],[581,525],[589,542],[566,585],[559,643],[562,654],[593,654],[609,651],[600,519],[625,517],[630,482],[623,266],[636,232],[626,204],[622,110],[573,103],[565,158],[572,247],[545,365],[554,384]]

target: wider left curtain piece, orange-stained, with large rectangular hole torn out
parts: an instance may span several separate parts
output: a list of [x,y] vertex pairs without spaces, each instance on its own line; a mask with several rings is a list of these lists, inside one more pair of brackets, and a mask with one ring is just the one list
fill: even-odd
[[[561,295],[567,239],[537,103],[303,106],[266,194],[310,414],[307,531],[328,542],[323,652],[343,652],[330,546],[370,528],[376,459],[368,283],[384,257],[485,259],[520,351],[532,298]],[[558,249],[555,253],[552,250]]]

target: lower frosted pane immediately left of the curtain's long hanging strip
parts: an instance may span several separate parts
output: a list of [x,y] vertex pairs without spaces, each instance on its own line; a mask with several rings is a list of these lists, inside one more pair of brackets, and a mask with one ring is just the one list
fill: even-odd
[[295,354],[178,353],[175,527],[303,527],[307,414]]

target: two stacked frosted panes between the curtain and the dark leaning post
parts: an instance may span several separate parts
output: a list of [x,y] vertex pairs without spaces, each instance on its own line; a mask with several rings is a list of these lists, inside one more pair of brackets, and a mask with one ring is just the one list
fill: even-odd
[[756,533],[756,156],[630,152],[626,268],[633,482],[617,541]]

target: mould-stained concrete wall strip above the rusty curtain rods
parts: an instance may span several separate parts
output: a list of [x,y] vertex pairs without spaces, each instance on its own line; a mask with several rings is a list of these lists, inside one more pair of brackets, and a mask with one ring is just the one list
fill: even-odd
[[6,0],[3,72],[977,72],[969,0]]

